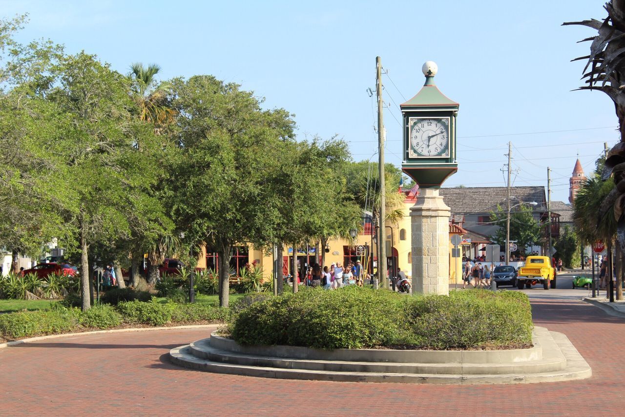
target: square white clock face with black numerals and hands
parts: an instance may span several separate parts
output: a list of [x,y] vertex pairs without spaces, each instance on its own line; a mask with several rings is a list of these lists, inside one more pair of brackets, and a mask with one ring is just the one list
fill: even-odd
[[449,157],[448,117],[410,118],[409,128],[409,157]]

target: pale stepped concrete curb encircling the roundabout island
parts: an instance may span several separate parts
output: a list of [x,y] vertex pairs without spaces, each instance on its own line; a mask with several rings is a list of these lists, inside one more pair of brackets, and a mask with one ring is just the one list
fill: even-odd
[[[394,361],[392,360],[394,358],[391,357],[363,357],[362,353],[369,351],[369,349],[354,349],[354,356],[351,357],[341,352],[341,359],[335,356],[334,360],[331,361],[311,358],[284,358],[283,354],[301,354],[302,352],[284,351],[285,346],[265,346],[264,348],[274,348],[273,353],[279,353],[280,356],[241,353],[240,351],[233,351],[236,346],[224,344],[224,339],[218,336],[171,349],[169,359],[174,364],[197,371],[314,381],[510,384],[571,381],[592,376],[590,366],[564,334],[550,332],[544,327],[535,327],[533,336],[534,341],[541,346],[541,349],[537,351],[537,353],[542,353],[541,358],[528,357],[524,361],[509,363],[493,363],[492,360],[496,357],[488,358],[487,356],[472,356],[470,358],[472,361],[481,360],[481,363],[462,361],[462,356],[450,357],[449,359],[460,359],[459,362],[452,363],[406,363],[402,362],[402,359],[406,358],[401,356],[396,358],[399,361]],[[213,342],[217,342],[214,344],[215,346]],[[292,347],[289,346],[288,348]],[[343,350],[350,349],[337,349],[337,351]],[[263,353],[269,352],[264,351]],[[312,356],[315,354],[314,351],[307,352],[311,353]],[[326,351],[326,358],[329,353],[332,351]],[[365,360],[346,360],[354,358]],[[378,361],[379,359],[386,359],[386,361]]]

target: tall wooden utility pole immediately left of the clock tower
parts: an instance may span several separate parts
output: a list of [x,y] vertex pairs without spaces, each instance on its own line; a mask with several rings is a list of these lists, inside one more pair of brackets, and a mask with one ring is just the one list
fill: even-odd
[[[384,184],[384,121],[382,120],[382,60],[376,56],[376,93],[377,93],[377,147],[380,176],[380,220],[377,237],[377,279],[386,282],[386,187]],[[384,280],[384,281],[382,281]]]

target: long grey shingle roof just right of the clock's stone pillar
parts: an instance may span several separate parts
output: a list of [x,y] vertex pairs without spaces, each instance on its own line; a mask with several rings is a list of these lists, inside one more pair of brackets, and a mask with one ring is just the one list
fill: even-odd
[[[506,207],[506,187],[441,188],[440,195],[451,209],[451,214],[489,213],[497,203]],[[520,202],[537,202],[534,210],[546,210],[544,187],[511,187],[511,205]]]

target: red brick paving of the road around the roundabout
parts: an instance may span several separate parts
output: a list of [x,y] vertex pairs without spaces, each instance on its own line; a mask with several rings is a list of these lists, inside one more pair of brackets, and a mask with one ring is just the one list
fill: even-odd
[[207,329],[71,336],[0,349],[0,414],[571,415],[625,414],[625,319],[582,302],[532,302],[592,367],[583,381],[518,385],[287,381],[204,373],[167,361]]

